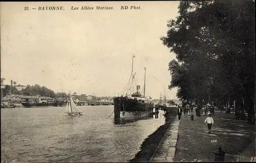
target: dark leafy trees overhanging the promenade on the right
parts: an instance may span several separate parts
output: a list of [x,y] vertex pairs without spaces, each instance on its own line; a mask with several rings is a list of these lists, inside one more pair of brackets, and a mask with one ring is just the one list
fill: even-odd
[[163,44],[176,53],[169,63],[177,96],[198,104],[236,101],[255,121],[253,1],[184,1],[168,21]]

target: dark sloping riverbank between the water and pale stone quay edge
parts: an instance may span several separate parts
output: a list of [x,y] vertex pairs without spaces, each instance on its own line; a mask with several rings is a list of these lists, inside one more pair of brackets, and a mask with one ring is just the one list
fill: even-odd
[[158,127],[158,129],[148,136],[145,141],[141,145],[141,150],[135,155],[130,162],[149,162],[151,157],[153,156],[155,150],[157,149],[159,143],[161,142],[162,138],[166,130],[168,129],[169,125],[175,120],[176,118],[176,109],[171,109],[167,114],[165,114],[165,123]]

